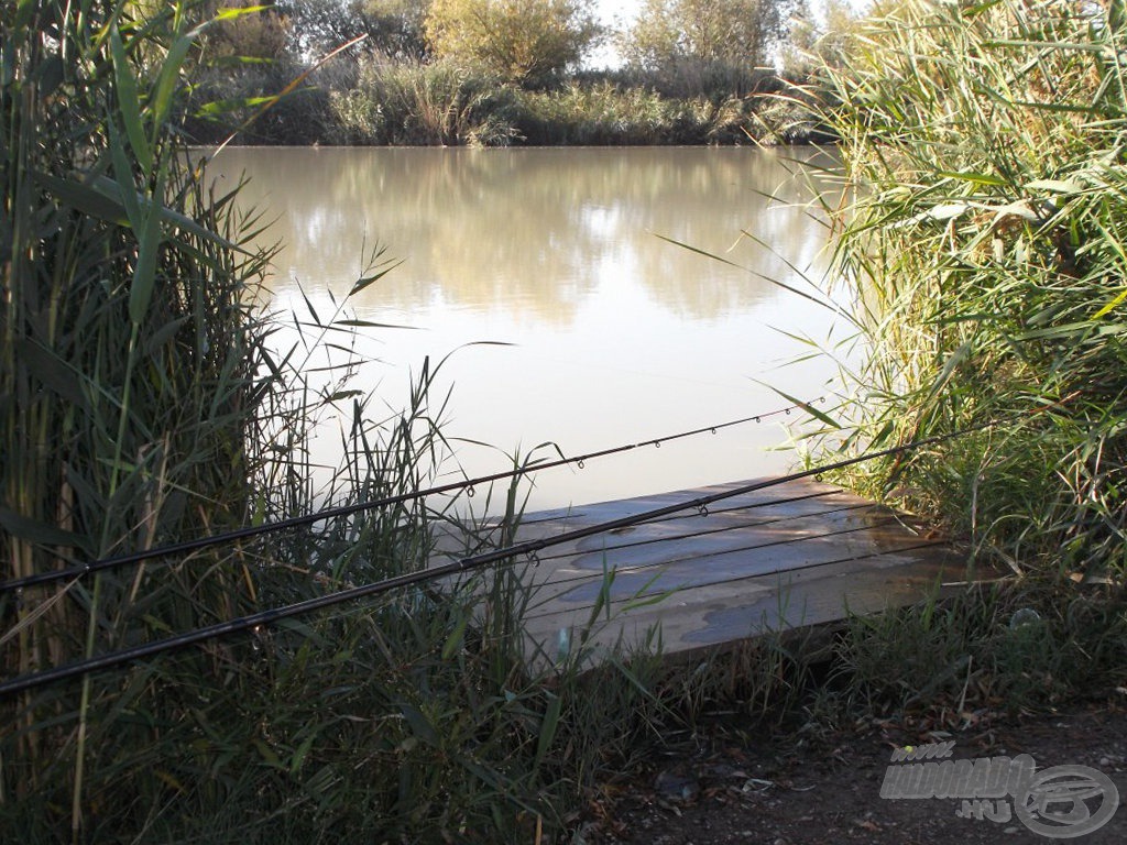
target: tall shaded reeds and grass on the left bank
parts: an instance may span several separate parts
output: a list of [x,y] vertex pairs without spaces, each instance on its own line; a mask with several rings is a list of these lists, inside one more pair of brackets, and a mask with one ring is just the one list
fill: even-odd
[[[441,365],[424,363],[389,411],[356,388],[371,365],[349,337],[371,327],[346,302],[332,314],[263,308],[259,219],[237,189],[205,187],[172,117],[199,94],[207,15],[33,0],[6,18],[0,579],[456,472]],[[371,259],[354,292],[392,270]],[[290,324],[301,339],[279,350]],[[318,348],[330,361],[310,367]],[[330,412],[343,459],[314,486],[312,432]],[[521,501],[503,492],[499,542]],[[0,671],[418,570],[437,531],[483,534],[449,505],[405,500],[7,590]],[[593,669],[600,612],[567,647],[538,652],[521,564],[0,697],[0,829],[28,843],[562,839],[609,768],[726,687],[671,677],[657,639],[600,653]]]

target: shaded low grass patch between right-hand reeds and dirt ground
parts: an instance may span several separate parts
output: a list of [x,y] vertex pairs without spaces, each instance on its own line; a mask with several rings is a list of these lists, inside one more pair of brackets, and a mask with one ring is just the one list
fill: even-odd
[[979,585],[854,616],[834,652],[823,692],[829,712],[850,719],[930,710],[953,728],[984,713],[1051,711],[1077,694],[1113,690],[1127,673],[1127,608],[1102,590]]

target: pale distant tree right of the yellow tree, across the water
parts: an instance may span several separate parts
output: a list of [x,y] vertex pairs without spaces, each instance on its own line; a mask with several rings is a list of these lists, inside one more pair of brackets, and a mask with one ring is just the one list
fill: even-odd
[[645,0],[620,42],[623,57],[658,70],[685,60],[761,65],[798,0]]

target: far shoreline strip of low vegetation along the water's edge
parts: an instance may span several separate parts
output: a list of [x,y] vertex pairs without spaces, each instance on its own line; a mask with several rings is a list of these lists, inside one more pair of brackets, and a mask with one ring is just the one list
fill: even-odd
[[[344,87],[313,86],[259,110],[243,105],[211,114],[205,106],[181,117],[183,130],[199,145],[238,136],[261,146],[739,146],[833,141],[807,104],[809,95],[781,79],[667,94],[610,79],[529,90],[442,65],[387,68],[373,74]],[[205,81],[199,97],[231,103],[224,90],[229,84],[224,79]],[[278,75],[245,84],[259,91],[257,101],[267,91],[285,88],[287,80]]]

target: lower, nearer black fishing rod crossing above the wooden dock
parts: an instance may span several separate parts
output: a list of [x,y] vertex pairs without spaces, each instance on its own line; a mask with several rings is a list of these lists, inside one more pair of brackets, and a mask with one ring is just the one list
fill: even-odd
[[[1059,403],[1056,403],[1059,404]],[[1038,409],[1036,412],[1044,412],[1053,406],[1047,408]],[[1028,415],[1023,415],[1028,416]],[[835,461],[833,463],[823,464],[819,466],[814,466],[807,470],[801,470],[799,472],[792,472],[788,475],[781,475],[773,479],[763,479],[760,481],[749,482],[746,484],[740,484],[728,490],[721,490],[715,493],[708,493],[706,496],[699,496],[696,498],[690,499],[683,502],[674,502],[671,505],[665,505],[663,507],[654,508],[651,510],[645,510],[640,514],[635,514],[632,516],[624,516],[618,519],[611,519],[603,523],[597,523],[595,525],[588,525],[582,528],[575,528],[562,534],[557,534],[550,537],[541,537],[539,540],[529,540],[521,543],[515,543],[513,545],[506,546],[504,549],[497,549],[490,552],[483,552],[480,554],[470,555],[467,558],[461,558],[456,561],[445,563],[443,566],[434,567],[432,569],[425,569],[417,572],[408,572],[406,575],[396,576],[393,578],[387,578],[381,581],[375,581],[373,584],[365,584],[360,587],[350,587],[348,589],[338,590],[336,593],[330,593],[325,596],[318,596],[316,598],[309,598],[304,602],[298,602],[295,604],[285,605],[283,607],[276,607],[269,611],[261,611],[259,613],[252,613],[240,619],[230,620],[228,622],[220,622],[214,625],[208,625],[206,628],[199,628],[194,631],[189,631],[183,634],[177,634],[175,637],[168,637],[162,640],[154,640],[153,642],[144,643],[142,646],[134,646],[133,648],[122,649],[118,651],[110,651],[105,655],[99,655],[98,657],[90,657],[82,660],[76,660],[72,664],[65,666],[59,666],[53,669],[45,669],[43,671],[34,673],[32,675],[25,675],[24,677],[16,677],[11,681],[6,681],[0,683],[0,696],[8,695],[11,693],[23,692],[25,690],[30,690],[33,687],[43,686],[55,681],[63,681],[66,678],[74,677],[77,675],[86,675],[90,671],[96,671],[98,669],[106,669],[114,666],[119,666],[122,664],[131,662],[143,657],[152,657],[154,655],[163,653],[167,651],[172,651],[177,649],[185,648],[187,646],[195,644],[197,642],[204,642],[206,640],[213,640],[220,637],[225,637],[232,633],[239,633],[250,629],[255,629],[263,625],[270,625],[281,620],[290,619],[293,616],[304,615],[323,607],[330,607],[344,602],[352,602],[358,598],[366,598],[369,596],[376,596],[383,593],[388,593],[392,589],[399,587],[406,587],[414,584],[419,584],[423,581],[429,581],[437,578],[444,578],[451,575],[460,575],[462,572],[468,572],[474,569],[480,569],[481,567],[488,566],[489,563],[496,563],[498,561],[508,560],[520,555],[530,555],[535,560],[538,552],[543,549],[548,549],[553,545],[559,545],[562,543],[569,543],[576,540],[583,540],[584,537],[593,536],[595,534],[603,534],[610,531],[615,531],[616,528],[625,528],[635,525],[640,525],[642,523],[651,522],[654,519],[659,519],[664,516],[671,514],[680,513],[682,510],[698,510],[701,515],[708,515],[708,506],[717,501],[722,501],[725,499],[735,498],[737,496],[744,496],[749,492],[756,492],[758,490],[764,490],[771,487],[778,487],[780,484],[788,483],[790,481],[799,481],[805,478],[811,478],[814,475],[820,475],[826,472],[834,472],[835,470],[841,470],[846,466],[852,466],[864,461],[872,461],[878,457],[888,457],[890,455],[899,455],[906,452],[911,452],[917,448],[923,448],[924,446],[932,446],[939,443],[946,443],[947,441],[955,439],[957,437],[962,437],[975,432],[985,430],[987,428],[994,428],[1002,425],[1004,421],[1010,420],[994,420],[990,422],[983,422],[977,426],[971,426],[970,428],[964,428],[958,432],[949,432],[948,434],[934,435],[932,437],[925,437],[923,439],[913,441],[911,443],[905,443],[899,446],[889,446],[876,452],[868,452],[862,455],[857,455],[854,457],[842,459],[841,461]]]

